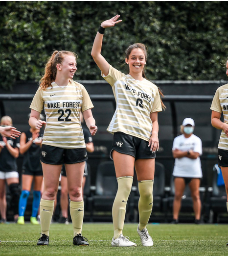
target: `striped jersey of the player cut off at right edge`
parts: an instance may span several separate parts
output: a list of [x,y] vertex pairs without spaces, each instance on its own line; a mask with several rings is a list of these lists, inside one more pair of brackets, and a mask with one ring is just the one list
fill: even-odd
[[[224,123],[228,124],[228,83],[216,90],[210,109],[223,113]],[[228,150],[228,137],[224,130],[221,132],[218,148]]]

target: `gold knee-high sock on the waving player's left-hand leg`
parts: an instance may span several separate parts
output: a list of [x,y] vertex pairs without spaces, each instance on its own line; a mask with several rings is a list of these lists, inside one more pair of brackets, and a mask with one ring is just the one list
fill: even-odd
[[132,176],[125,176],[117,178],[118,190],[113,203],[113,226],[114,226],[114,239],[122,234],[126,205],[128,197],[132,189]]

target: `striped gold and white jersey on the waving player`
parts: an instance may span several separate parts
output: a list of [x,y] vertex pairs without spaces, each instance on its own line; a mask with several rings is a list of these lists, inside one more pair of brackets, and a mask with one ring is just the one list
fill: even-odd
[[139,81],[125,75],[111,65],[108,76],[101,75],[112,86],[116,102],[107,130],[149,141],[152,131],[150,113],[162,111],[158,87],[147,79]]

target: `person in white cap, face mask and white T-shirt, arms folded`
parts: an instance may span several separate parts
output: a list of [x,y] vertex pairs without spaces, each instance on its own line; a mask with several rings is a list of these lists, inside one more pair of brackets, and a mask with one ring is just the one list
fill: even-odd
[[179,223],[178,216],[181,209],[182,195],[187,184],[189,185],[193,200],[195,224],[200,224],[201,201],[199,188],[200,180],[203,176],[200,161],[202,141],[193,134],[194,128],[194,120],[185,118],[181,126],[182,135],[176,137],[173,142],[175,197],[173,201],[172,224]]

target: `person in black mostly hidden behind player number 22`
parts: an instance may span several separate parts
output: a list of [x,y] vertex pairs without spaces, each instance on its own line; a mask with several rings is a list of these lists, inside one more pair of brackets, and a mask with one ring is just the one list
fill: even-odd
[[[80,119],[81,123],[84,122],[83,115],[80,113]],[[90,131],[82,127],[83,129],[83,134],[85,138],[85,143],[86,143],[86,151],[93,153],[94,151],[94,146],[92,142],[92,137],[90,134]],[[84,170],[84,177],[83,177],[83,182],[82,182],[82,197],[84,194],[84,187],[86,184],[86,177],[88,176],[88,168],[87,168],[87,162],[85,163],[85,170]],[[59,218],[59,223],[65,223],[69,224],[68,222],[68,184],[67,184],[67,174],[66,174],[66,168],[63,165],[62,171],[61,171],[61,196],[60,196],[60,206],[61,206],[61,216]]]

